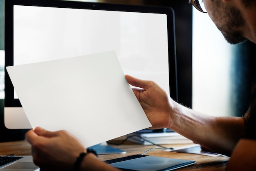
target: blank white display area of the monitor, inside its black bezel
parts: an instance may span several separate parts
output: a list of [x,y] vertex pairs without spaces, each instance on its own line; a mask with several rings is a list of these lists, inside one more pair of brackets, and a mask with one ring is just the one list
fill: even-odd
[[169,93],[166,14],[20,5],[13,10],[14,65],[115,50],[125,74],[153,80]]

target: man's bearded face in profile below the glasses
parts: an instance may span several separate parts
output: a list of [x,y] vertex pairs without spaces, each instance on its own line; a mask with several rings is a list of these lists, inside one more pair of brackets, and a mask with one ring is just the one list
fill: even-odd
[[245,19],[238,9],[221,0],[204,0],[204,6],[227,42],[237,44],[246,40],[241,31]]

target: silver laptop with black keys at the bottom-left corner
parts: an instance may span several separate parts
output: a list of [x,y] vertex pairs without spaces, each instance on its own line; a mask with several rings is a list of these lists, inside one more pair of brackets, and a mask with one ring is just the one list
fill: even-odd
[[39,171],[32,156],[0,155],[0,171]]

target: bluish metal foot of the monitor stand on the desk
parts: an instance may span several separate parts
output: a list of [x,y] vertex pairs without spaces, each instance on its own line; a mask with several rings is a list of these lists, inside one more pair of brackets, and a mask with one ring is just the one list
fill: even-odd
[[107,142],[102,142],[94,146],[88,147],[88,149],[94,149],[97,154],[124,154],[126,151],[111,147]]

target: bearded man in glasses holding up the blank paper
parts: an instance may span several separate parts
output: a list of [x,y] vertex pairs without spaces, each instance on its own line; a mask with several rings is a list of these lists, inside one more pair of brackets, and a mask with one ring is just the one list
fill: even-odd
[[[205,12],[200,7],[202,2],[190,0],[190,3]],[[248,39],[256,43],[256,0],[203,0],[203,3],[228,42],[236,44]],[[170,128],[212,151],[231,156],[227,170],[256,170],[256,86],[243,118],[212,117],[176,103],[154,82],[131,76],[126,79],[131,85],[143,88],[133,91],[153,125],[151,129]],[[71,170],[84,149],[67,131],[49,132],[38,127],[30,130],[26,139],[32,144],[34,162],[42,170]],[[91,153],[79,159],[81,170],[115,170]]]

